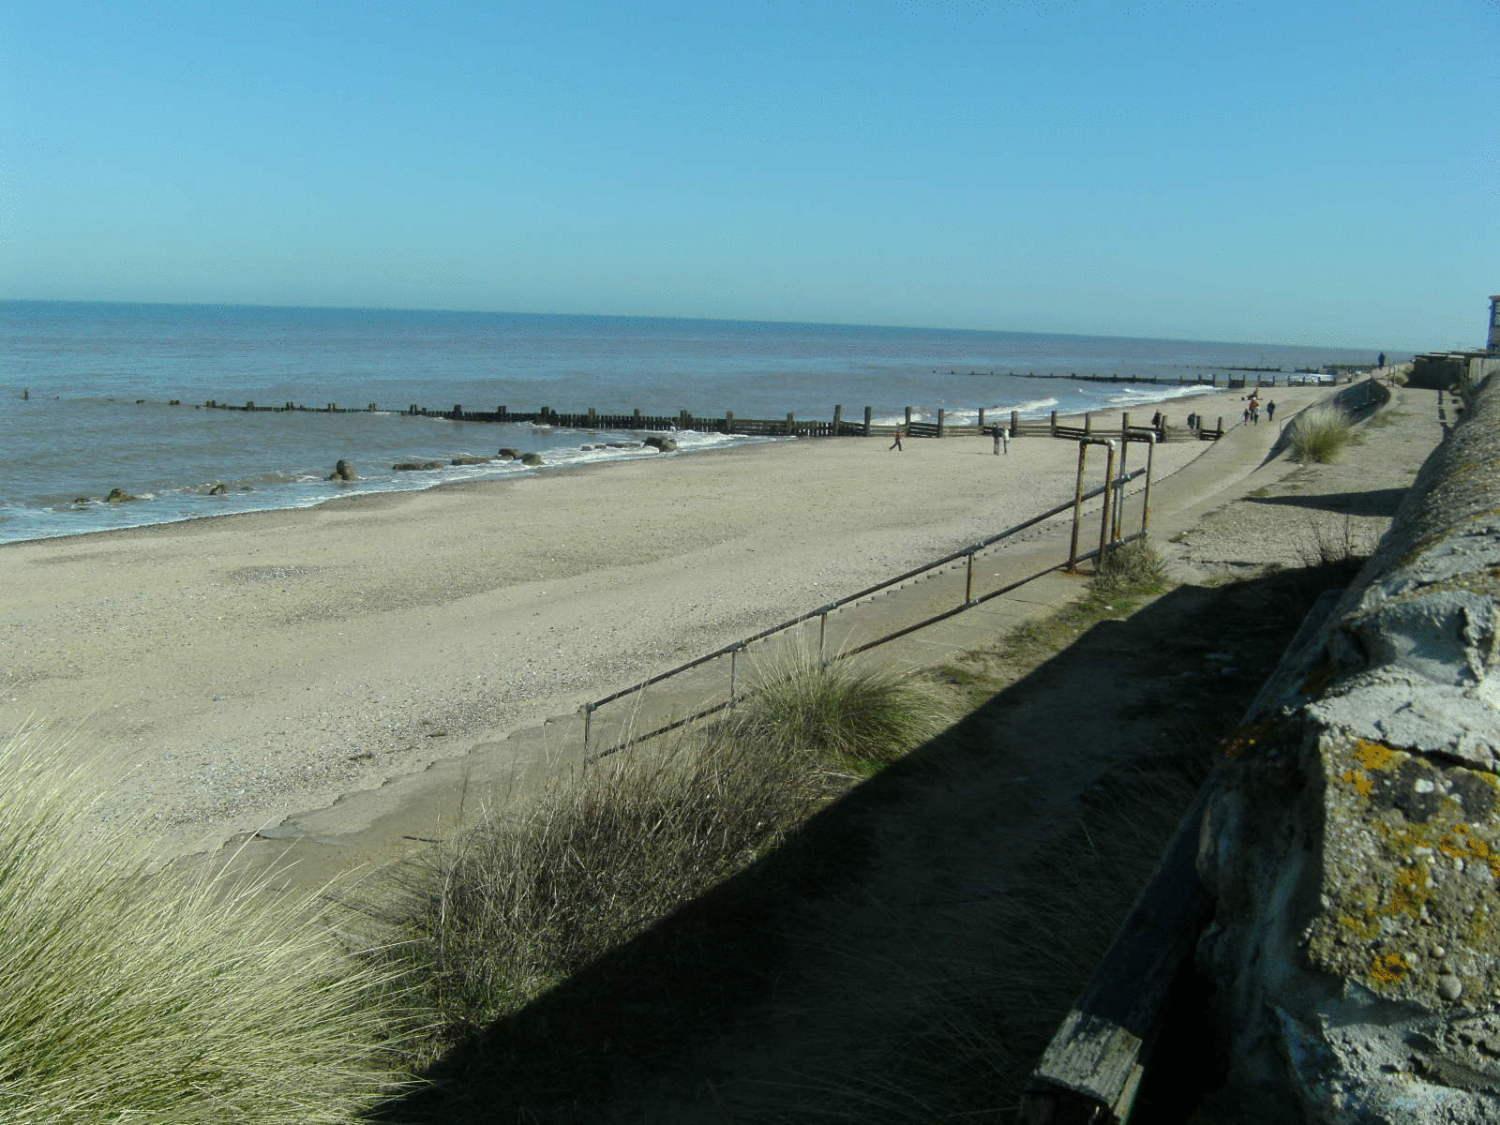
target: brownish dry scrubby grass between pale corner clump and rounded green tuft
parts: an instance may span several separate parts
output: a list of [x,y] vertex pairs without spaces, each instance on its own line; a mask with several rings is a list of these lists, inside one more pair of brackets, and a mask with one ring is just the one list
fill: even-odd
[[804,762],[718,732],[628,750],[404,868],[372,912],[459,1040],[748,866],[818,798]]

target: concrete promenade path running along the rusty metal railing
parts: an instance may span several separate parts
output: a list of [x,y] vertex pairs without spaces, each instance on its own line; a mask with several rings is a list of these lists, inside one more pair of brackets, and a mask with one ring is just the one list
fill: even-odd
[[[1158,542],[1190,531],[1204,513],[1251,490],[1264,489],[1298,470],[1276,452],[1282,428],[1298,411],[1348,388],[1278,388],[1276,423],[1236,424],[1222,440],[1204,442],[1202,456],[1168,477],[1150,494],[1150,534]],[[1050,438],[1026,438],[1048,441]],[[1436,441],[1434,441],[1436,444]],[[1130,448],[1128,468],[1140,468],[1143,446]],[[1088,486],[1102,482],[1104,454],[1090,454]],[[1080,550],[1098,546],[1100,501],[1084,507]],[[1128,492],[1124,531],[1140,528],[1142,492]],[[999,531],[999,528],[996,530]],[[902,669],[940,664],[952,656],[992,645],[1029,620],[1052,614],[1086,592],[1088,574],[1058,568],[1066,558],[1071,519],[1058,516],[996,544],[975,558],[974,592],[978,597],[1002,586],[1014,590],[932,626],[880,645],[864,658]],[[850,609],[816,618],[756,646],[738,658],[738,684],[753,676],[754,663],[789,645],[824,651],[860,645],[962,604],[968,574],[960,561],[876,594]],[[1042,573],[1046,572],[1046,573]],[[1032,578],[1035,576],[1035,578]],[[1029,579],[1029,580],[1026,580]],[[1018,585],[1017,585],[1018,584]],[[800,608],[789,606],[789,615]],[[674,678],[646,693],[644,702],[622,700],[602,708],[590,732],[591,752],[624,741],[630,729],[651,729],[674,716],[688,714],[726,698],[729,660],[720,658]],[[561,716],[542,726],[484,742],[470,753],[435,762],[428,770],[399,777],[369,790],[348,794],[333,806],[286,818],[252,837],[231,840],[222,856],[243,870],[278,868],[276,885],[320,886],[332,878],[374,870],[400,855],[452,837],[486,808],[524,798],[548,777],[586,758],[582,716]]]

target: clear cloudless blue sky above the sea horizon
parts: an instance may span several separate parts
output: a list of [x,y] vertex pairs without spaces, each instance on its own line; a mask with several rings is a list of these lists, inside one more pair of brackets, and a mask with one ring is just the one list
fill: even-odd
[[10,0],[0,297],[1474,345],[1497,60],[1494,0]]

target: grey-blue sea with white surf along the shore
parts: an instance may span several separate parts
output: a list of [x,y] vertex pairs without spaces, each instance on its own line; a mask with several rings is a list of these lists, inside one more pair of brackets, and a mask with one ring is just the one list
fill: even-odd
[[[1230,374],[1370,363],[1372,352],[1024,332],[636,316],[0,302],[0,543],[78,536],[362,492],[555,472],[658,458],[612,448],[639,435],[450,422],[452,410],[846,418],[892,422],[939,408],[1130,410],[1192,387],[1036,380],[1035,375]],[[171,400],[180,405],[168,405]],[[302,414],[204,410],[216,402],[366,406]],[[765,438],[680,432],[694,456]],[[402,460],[543,456],[398,472]],[[592,448],[584,448],[591,446]],[[327,477],[351,462],[352,483]],[[212,494],[214,484],[222,490]],[[138,496],[105,502],[111,489]]]

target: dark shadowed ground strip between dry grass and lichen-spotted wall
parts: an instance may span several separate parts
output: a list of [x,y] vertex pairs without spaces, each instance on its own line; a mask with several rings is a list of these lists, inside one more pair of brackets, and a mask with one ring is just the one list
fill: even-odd
[[951,663],[951,729],[855,786],[804,756],[808,819],[536,976],[380,1119],[1004,1119],[1330,573],[1143,608],[1101,584]]

